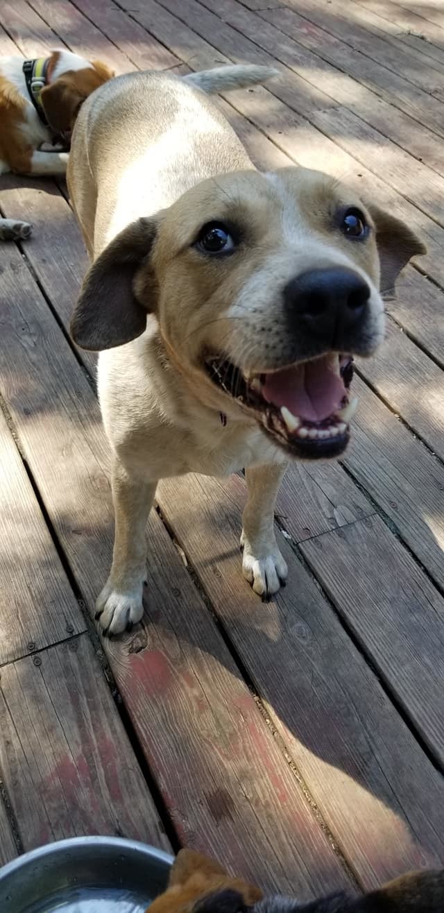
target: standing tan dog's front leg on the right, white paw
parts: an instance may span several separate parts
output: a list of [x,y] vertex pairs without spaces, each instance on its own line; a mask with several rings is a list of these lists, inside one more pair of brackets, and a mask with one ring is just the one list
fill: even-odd
[[286,464],[248,467],[248,498],[242,517],[242,572],[255,593],[277,593],[288,574],[274,535],[274,507]]

